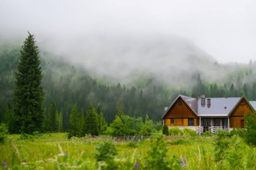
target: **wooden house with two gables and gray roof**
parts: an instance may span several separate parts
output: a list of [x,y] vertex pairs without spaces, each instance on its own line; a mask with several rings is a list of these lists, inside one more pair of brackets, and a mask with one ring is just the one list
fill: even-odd
[[246,97],[211,97],[198,99],[179,95],[166,108],[162,120],[169,127],[191,128],[199,134],[205,130],[245,128],[245,116],[252,114],[256,101]]

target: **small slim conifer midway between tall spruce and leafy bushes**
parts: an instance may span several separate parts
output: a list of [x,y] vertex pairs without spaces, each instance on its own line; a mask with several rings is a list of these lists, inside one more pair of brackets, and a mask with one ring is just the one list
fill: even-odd
[[79,133],[79,113],[76,104],[73,105],[69,118],[69,138],[71,136],[78,136]]

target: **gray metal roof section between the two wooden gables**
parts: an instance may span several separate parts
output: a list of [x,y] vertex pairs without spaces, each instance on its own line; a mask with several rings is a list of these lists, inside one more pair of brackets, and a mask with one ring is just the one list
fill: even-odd
[[[211,99],[211,106],[207,108],[207,99]],[[199,116],[228,116],[241,97],[205,98],[205,106],[201,106],[201,99],[197,101]]]

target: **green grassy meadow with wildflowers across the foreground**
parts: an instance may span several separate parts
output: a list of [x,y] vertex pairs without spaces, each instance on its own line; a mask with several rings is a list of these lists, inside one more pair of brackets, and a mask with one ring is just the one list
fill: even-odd
[[68,140],[65,133],[8,135],[0,145],[1,169],[256,169],[256,148],[238,136],[158,136],[102,145],[108,140],[113,141],[108,136]]

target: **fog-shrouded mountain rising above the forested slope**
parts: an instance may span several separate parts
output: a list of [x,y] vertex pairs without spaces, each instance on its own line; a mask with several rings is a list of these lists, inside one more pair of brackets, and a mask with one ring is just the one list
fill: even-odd
[[47,50],[50,56],[66,58],[105,83],[139,87],[154,79],[167,87],[191,88],[198,74],[207,82],[224,84],[236,81],[236,72],[246,67],[218,64],[193,42],[174,36],[94,36],[78,40],[75,47],[60,44]]

